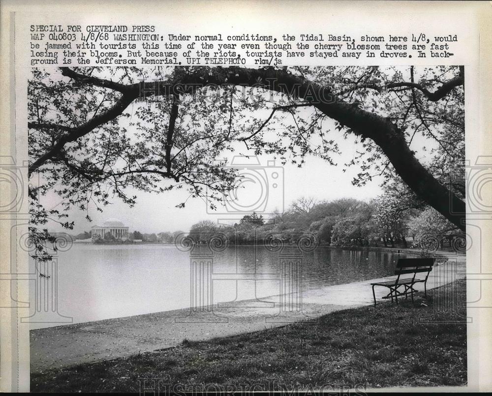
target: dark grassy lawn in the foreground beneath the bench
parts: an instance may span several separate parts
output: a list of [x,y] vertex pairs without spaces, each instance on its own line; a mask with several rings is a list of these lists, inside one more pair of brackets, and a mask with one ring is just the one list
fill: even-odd
[[[444,298],[456,299],[459,308],[436,311]],[[426,300],[419,294],[415,304],[338,311],[313,322],[184,340],[163,351],[32,374],[31,392],[139,392],[143,378],[209,391],[245,384],[256,391],[465,385],[465,299],[460,280],[431,290]]]

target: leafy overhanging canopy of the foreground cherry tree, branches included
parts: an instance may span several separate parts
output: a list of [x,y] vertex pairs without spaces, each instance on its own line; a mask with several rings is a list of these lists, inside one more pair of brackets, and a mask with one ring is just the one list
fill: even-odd
[[[40,175],[40,183],[30,179],[33,256],[50,258],[54,241],[43,227],[49,219],[71,229],[72,207],[91,220],[89,205],[102,211],[115,198],[133,205],[131,187],[185,188],[215,208],[239,177],[217,161],[225,152],[243,147],[298,166],[311,155],[335,165],[337,136],[349,135],[359,148],[341,165],[360,168],[354,184],[397,175],[464,230],[463,82],[464,69],[449,66],[33,69],[29,174]],[[60,196],[61,210],[40,203],[48,191]]]

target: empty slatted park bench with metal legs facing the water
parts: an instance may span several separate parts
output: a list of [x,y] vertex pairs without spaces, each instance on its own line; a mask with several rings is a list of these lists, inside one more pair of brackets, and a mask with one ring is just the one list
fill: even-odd
[[[372,286],[372,296],[374,297],[374,306],[376,305],[376,294],[374,292],[374,286],[384,286],[390,289],[389,293],[383,298],[391,298],[391,302],[396,300],[398,304],[398,297],[405,296],[408,298],[408,294],[412,297],[413,293],[417,290],[414,289],[413,285],[415,283],[423,282],[425,296],[427,297],[427,278],[432,271],[432,266],[434,265],[434,258],[400,258],[397,263],[397,268],[395,270],[395,275],[397,278],[394,281],[371,283]],[[425,279],[417,279],[416,275],[418,273],[426,273]],[[401,275],[413,274],[412,278],[401,278]],[[403,290],[401,288],[403,287]]]

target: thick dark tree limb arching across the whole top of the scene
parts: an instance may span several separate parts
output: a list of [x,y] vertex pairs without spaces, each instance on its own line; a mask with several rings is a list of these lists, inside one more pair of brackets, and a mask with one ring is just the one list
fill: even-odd
[[[207,70],[207,71],[205,71]],[[408,147],[402,131],[387,118],[375,113],[366,112],[357,106],[338,98],[329,88],[311,83],[300,76],[275,68],[247,69],[241,67],[204,69],[197,73],[185,73],[174,77],[174,80],[133,84],[121,88],[125,94],[105,113],[92,118],[86,124],[75,128],[64,135],[45,155],[36,160],[30,167],[30,173],[50,159],[64,144],[75,141],[92,131],[95,127],[114,119],[139,95],[143,97],[172,95],[194,90],[206,85],[240,85],[261,87],[263,89],[287,94],[296,99],[304,99],[327,116],[337,120],[341,125],[350,128],[356,135],[373,140],[391,161],[394,169],[405,183],[421,198],[438,210],[453,224],[464,230],[463,222],[465,205],[456,195],[441,185],[431,173],[415,158]],[[78,78],[78,76],[77,76]],[[89,80],[86,80],[89,82]],[[460,76],[443,84],[436,92],[421,91],[433,101],[439,100],[454,87],[463,84],[462,71]],[[112,83],[112,82],[111,82]],[[101,81],[95,85],[103,86]],[[409,83],[395,83],[408,86]],[[108,86],[109,87],[109,86]],[[419,89],[418,87],[415,87]],[[115,88],[116,89],[116,88]],[[454,211],[453,211],[453,210]]]

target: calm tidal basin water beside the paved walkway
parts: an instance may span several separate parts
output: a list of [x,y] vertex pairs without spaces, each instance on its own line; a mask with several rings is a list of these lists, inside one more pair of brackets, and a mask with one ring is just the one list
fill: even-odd
[[[392,275],[405,257],[326,247],[301,253],[238,246],[209,253],[201,246],[189,252],[160,244],[74,244],[59,252],[55,266],[39,267],[49,279],[32,276],[26,321],[36,329],[188,308],[196,290],[214,304],[278,295],[282,260],[297,263],[296,287],[305,291]],[[200,260],[209,264],[197,267]],[[31,269],[35,273],[34,263]]]

